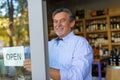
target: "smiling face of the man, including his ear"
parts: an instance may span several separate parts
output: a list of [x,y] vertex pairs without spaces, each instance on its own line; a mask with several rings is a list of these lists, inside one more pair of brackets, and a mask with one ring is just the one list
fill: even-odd
[[53,17],[53,26],[56,34],[63,38],[71,32],[74,27],[75,21],[70,22],[69,15],[66,12],[57,13]]

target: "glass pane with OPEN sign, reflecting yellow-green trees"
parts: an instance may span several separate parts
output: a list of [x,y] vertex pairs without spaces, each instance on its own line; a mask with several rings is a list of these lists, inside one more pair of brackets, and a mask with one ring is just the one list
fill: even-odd
[[30,58],[28,2],[0,0],[0,80],[32,80],[23,67],[26,58]]

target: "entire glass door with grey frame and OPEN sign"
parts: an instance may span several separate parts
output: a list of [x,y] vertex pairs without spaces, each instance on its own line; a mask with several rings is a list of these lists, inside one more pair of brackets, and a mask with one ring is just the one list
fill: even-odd
[[45,1],[0,1],[0,80],[49,80],[46,21]]

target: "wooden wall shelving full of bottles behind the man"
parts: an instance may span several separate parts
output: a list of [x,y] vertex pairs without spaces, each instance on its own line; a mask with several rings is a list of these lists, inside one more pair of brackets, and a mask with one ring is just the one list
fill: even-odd
[[108,51],[120,46],[120,13],[76,20],[76,24],[79,22],[83,24],[79,26],[82,31],[78,32],[76,28],[75,33],[86,37],[92,46],[101,44]]

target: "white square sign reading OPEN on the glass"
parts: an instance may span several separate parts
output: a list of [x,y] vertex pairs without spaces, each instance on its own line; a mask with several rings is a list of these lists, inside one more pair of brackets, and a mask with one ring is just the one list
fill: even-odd
[[25,60],[24,47],[6,47],[3,48],[5,66],[23,66]]

